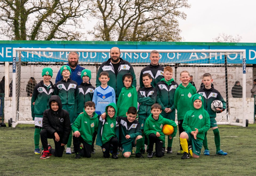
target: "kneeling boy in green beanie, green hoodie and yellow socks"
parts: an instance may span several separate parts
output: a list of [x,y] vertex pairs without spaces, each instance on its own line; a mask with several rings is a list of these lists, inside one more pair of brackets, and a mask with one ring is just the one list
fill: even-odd
[[[203,109],[203,96],[195,94],[191,97],[191,109],[187,111],[182,123],[185,131],[180,134],[180,143],[183,150],[181,159],[199,158],[203,147],[205,132],[210,129],[210,118],[206,110]],[[188,143],[191,144],[188,146]]]

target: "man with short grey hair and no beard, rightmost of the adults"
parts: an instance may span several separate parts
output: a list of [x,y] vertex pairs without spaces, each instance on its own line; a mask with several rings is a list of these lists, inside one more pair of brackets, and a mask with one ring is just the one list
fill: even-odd
[[156,50],[151,51],[149,59],[150,59],[150,64],[141,70],[141,74],[139,76],[140,87],[144,87],[144,84],[142,82],[142,75],[144,73],[149,73],[151,75],[152,77],[151,85],[153,87],[155,87],[157,83],[161,81],[162,78],[164,78],[163,67],[158,63],[160,59],[159,52]]

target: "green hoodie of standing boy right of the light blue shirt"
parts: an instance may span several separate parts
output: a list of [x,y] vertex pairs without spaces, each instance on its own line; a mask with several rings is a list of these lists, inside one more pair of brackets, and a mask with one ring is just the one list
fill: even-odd
[[122,88],[122,91],[117,100],[117,116],[126,116],[129,107],[134,106],[138,108],[138,94],[134,86]]

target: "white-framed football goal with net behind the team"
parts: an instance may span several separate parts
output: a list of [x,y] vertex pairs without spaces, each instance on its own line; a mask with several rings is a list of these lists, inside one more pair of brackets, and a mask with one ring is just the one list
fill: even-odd
[[[152,49],[153,50],[153,49]],[[141,70],[150,64],[152,50],[121,49],[121,58],[133,66],[137,90]],[[79,65],[92,72],[91,84],[95,86],[98,67],[110,58],[110,49],[51,49],[51,48],[14,48],[13,57],[16,69],[13,73],[13,127],[18,123],[33,123],[29,95],[33,85],[42,80],[42,69],[51,67],[55,78],[60,67],[67,63],[69,52],[79,53]],[[210,73],[213,86],[227,102],[227,109],[217,114],[218,124],[245,126],[245,50],[157,50],[159,64],[173,68],[173,78],[180,84],[179,74],[187,70],[193,76],[197,91],[202,88],[202,76]],[[244,61],[244,64],[243,64]],[[32,80],[31,80],[32,77]],[[240,85],[240,86],[239,86]],[[177,119],[176,119],[177,120]]]

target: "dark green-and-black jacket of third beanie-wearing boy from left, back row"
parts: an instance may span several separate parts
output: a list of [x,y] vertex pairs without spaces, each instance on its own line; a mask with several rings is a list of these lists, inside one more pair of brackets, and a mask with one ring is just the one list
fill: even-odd
[[93,87],[90,83],[81,83],[78,86],[78,99],[77,99],[77,116],[83,112],[85,108],[85,102],[93,100],[93,93],[95,87]]

